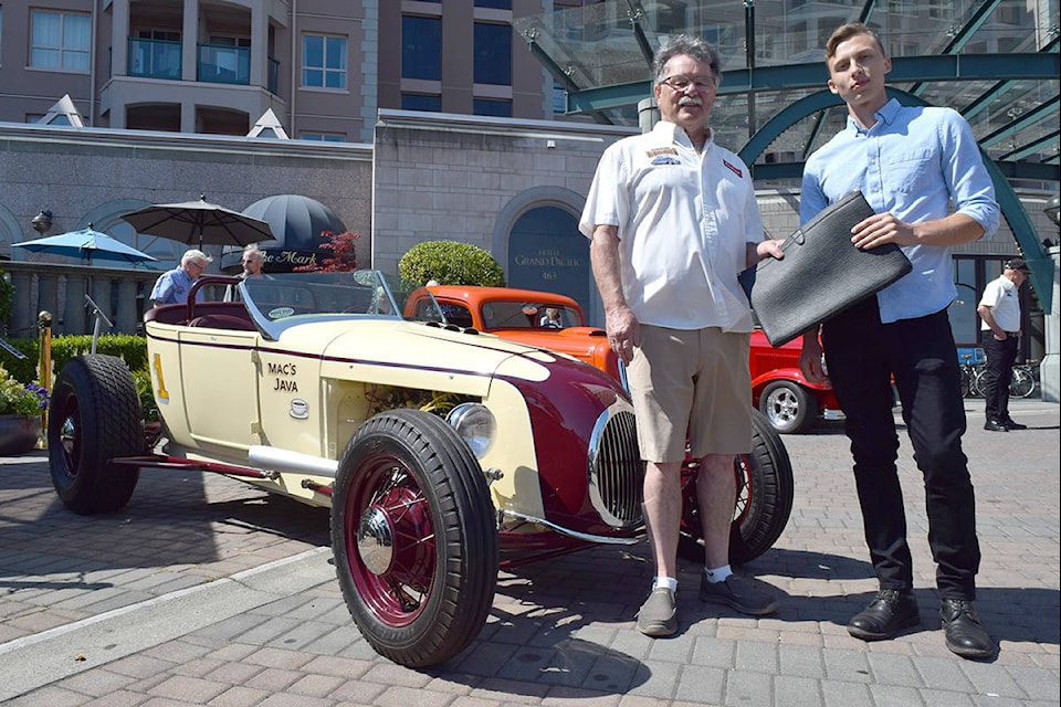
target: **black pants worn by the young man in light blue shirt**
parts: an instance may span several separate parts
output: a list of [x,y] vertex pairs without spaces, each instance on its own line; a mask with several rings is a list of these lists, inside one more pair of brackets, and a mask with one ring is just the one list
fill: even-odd
[[870,560],[881,589],[910,589],[913,568],[895,461],[892,377],[924,476],[928,545],[945,599],[975,598],[980,562],[975,499],[962,451],[965,408],[946,310],[881,324],[876,298],[822,329],[826,366],[845,416]]

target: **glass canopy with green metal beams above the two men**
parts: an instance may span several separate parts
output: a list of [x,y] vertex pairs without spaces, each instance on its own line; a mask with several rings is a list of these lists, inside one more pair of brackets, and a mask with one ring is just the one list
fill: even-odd
[[[568,115],[630,126],[651,97],[654,50],[671,34],[704,36],[723,60],[717,141],[740,151],[763,131],[756,178],[784,180],[843,126],[839,99],[817,94],[826,40],[853,21],[885,42],[905,103],[959,110],[1011,180],[1058,181],[1059,0],[606,0],[514,25],[566,92]],[[817,107],[770,123],[800,99]]]

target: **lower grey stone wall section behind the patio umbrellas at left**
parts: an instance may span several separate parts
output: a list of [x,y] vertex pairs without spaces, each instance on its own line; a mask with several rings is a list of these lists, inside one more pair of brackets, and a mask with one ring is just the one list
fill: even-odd
[[[45,235],[84,229],[130,228],[122,220],[150,203],[208,201],[242,211],[274,194],[316,199],[365,238],[359,260],[371,260],[372,149],[322,144],[137,130],[0,124],[0,258],[72,263],[12,249],[40,238],[30,221],[53,213]],[[168,242],[174,267],[187,245]],[[204,247],[214,255],[221,246]]]

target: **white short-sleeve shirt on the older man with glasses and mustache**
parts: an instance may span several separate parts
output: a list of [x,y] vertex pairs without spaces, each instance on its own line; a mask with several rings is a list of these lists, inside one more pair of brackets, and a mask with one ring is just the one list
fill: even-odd
[[708,138],[697,152],[685,130],[661,122],[605,150],[579,230],[619,228],[623,295],[642,324],[750,331],[737,282],[746,244],[763,240],[747,166]]

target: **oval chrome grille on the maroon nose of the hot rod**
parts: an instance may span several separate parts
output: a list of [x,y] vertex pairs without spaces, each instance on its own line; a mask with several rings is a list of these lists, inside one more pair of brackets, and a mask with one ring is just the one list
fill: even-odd
[[641,525],[644,463],[638,450],[633,410],[617,401],[597,419],[589,441],[589,498],[613,528]]

